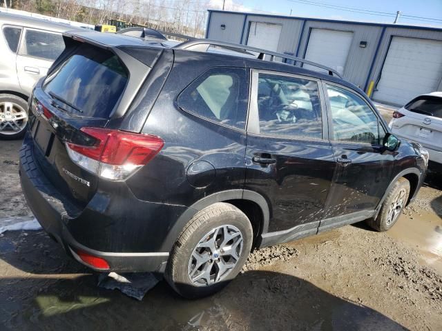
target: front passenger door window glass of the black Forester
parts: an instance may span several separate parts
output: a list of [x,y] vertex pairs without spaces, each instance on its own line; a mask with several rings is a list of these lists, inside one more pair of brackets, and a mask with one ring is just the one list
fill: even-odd
[[370,143],[378,145],[385,137],[385,130],[361,97],[356,94],[327,85],[334,140]]

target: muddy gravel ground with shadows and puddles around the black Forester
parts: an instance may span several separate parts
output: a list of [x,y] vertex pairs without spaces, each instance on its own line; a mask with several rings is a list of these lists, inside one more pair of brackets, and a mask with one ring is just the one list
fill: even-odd
[[[0,141],[0,219],[30,214],[20,143]],[[258,250],[227,288],[143,301],[97,288],[43,231],[0,235],[0,330],[441,330],[442,192],[425,187],[389,232],[348,225]]]

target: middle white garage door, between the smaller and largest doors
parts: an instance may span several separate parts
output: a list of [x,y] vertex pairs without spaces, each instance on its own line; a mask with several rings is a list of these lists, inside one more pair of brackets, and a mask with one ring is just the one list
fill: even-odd
[[[352,39],[353,32],[311,29],[305,59],[323,64],[343,74]],[[318,70],[307,64],[303,67]]]

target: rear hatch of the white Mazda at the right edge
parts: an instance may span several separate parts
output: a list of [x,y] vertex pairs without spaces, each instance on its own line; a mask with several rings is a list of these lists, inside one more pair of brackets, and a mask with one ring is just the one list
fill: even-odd
[[442,98],[431,95],[417,97],[404,106],[407,112],[396,114],[405,115],[405,121],[395,121],[394,130],[398,134],[422,143],[433,150],[442,150]]

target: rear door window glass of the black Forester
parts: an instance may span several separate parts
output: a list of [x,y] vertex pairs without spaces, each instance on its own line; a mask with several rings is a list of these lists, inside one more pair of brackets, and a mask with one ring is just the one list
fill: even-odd
[[295,139],[323,137],[316,81],[259,74],[258,114],[261,134]]

